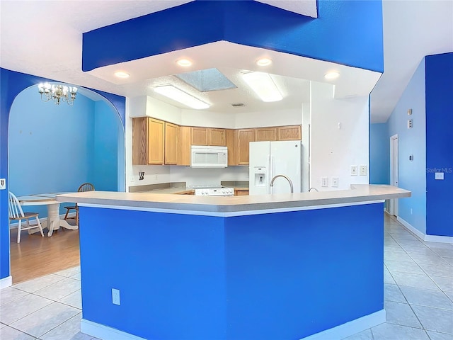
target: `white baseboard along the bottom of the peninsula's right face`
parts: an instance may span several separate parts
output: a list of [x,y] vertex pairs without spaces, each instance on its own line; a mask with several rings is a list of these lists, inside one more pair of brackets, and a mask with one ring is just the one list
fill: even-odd
[[373,314],[365,315],[365,317],[359,317],[358,319],[340,324],[340,326],[320,331],[319,333],[306,336],[301,340],[332,340],[332,339],[344,339],[347,336],[365,331],[371,327],[382,324],[386,321],[385,310],[379,310]]

